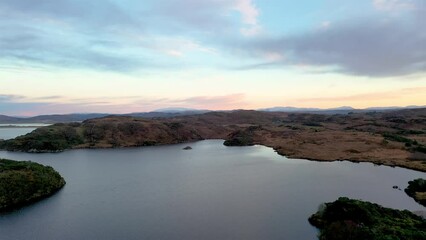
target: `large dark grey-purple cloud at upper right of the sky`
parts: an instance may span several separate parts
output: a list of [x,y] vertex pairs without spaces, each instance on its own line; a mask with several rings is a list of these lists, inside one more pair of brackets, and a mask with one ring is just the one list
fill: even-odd
[[251,41],[238,50],[260,59],[272,53],[285,56],[246,68],[308,65],[350,75],[409,75],[426,71],[423,24],[415,17],[405,21],[356,19],[296,36]]

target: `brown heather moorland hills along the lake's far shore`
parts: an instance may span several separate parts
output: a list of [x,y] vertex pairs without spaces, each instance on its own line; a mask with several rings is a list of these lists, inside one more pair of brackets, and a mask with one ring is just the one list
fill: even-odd
[[225,139],[265,145],[290,158],[349,160],[426,172],[426,109],[348,114],[239,110],[171,118],[105,116],[41,127],[0,149],[59,152],[76,148],[152,146]]

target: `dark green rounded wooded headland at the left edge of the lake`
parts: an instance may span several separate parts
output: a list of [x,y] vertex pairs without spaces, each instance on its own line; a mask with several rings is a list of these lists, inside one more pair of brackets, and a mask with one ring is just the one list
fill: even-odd
[[0,212],[46,198],[64,185],[65,180],[52,167],[0,159]]

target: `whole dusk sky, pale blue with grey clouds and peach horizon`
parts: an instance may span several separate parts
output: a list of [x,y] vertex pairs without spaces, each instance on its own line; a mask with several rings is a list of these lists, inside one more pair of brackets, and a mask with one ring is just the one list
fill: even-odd
[[0,114],[426,105],[425,0],[1,0]]

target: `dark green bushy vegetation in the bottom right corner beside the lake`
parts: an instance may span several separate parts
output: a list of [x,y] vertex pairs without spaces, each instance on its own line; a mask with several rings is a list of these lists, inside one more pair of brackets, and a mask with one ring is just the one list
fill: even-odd
[[426,220],[422,217],[344,197],[320,206],[309,222],[320,229],[320,240],[426,239]]

